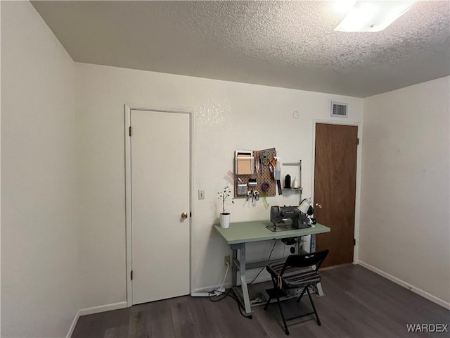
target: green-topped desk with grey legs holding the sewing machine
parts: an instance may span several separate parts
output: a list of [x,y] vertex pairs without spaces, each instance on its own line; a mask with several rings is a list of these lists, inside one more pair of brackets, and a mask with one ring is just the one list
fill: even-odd
[[[233,250],[233,261],[231,263],[233,271],[233,291],[236,293],[236,296],[238,296],[240,303],[245,309],[246,315],[251,315],[252,308],[250,305],[250,297],[248,296],[247,280],[245,280],[245,270],[261,268],[262,266],[266,266],[273,261],[245,263],[245,244],[250,242],[267,241],[270,239],[302,237],[311,234],[311,247],[309,252],[314,252],[316,251],[316,234],[330,232],[329,227],[319,223],[317,223],[314,227],[307,227],[306,229],[272,232],[266,228],[266,225],[271,224],[272,223],[269,220],[259,220],[255,222],[231,223],[230,227],[226,229],[220,227],[220,225],[214,225],[214,229],[220,234],[222,239],[224,239],[224,242],[231,246],[231,249]],[[240,272],[240,289],[238,288],[238,270]],[[321,285],[318,284],[317,287],[318,294],[322,295],[323,292]]]

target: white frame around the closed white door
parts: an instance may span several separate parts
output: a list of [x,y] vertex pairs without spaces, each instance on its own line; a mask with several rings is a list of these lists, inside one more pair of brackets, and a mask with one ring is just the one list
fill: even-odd
[[124,138],[125,138],[125,251],[126,251],[126,275],[127,281],[127,307],[133,305],[133,283],[131,282],[131,270],[133,270],[132,262],[132,241],[131,241],[131,138],[129,137],[129,127],[131,127],[131,111],[148,111],[160,112],[160,113],[180,113],[189,115],[189,289],[192,285],[192,213],[193,213],[193,195],[192,195],[192,182],[193,182],[193,113],[191,111],[185,111],[183,109],[167,109],[167,108],[147,108],[145,106],[139,106],[136,104],[124,105]]

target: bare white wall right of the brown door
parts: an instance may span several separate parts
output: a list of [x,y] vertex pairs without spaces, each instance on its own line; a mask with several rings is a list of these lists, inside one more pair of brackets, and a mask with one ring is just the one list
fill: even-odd
[[443,77],[364,99],[359,237],[361,261],[446,304],[449,93]]

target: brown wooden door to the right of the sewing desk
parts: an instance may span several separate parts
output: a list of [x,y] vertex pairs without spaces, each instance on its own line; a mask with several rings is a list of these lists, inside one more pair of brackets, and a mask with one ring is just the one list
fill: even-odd
[[330,250],[322,266],[353,261],[357,146],[358,127],[316,124],[314,217],[331,229],[316,235],[316,250]]

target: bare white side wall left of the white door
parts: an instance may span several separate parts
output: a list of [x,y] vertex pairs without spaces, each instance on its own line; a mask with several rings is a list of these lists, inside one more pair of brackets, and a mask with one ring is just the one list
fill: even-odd
[[75,63],[28,1],[1,1],[1,336],[65,337],[81,307]]

